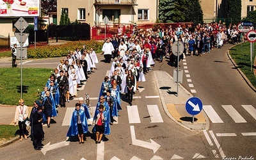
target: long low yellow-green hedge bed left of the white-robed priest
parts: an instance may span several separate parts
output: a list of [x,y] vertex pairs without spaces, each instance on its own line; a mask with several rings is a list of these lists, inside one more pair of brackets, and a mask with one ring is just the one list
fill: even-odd
[[75,42],[67,42],[61,45],[38,46],[36,49],[28,49],[28,58],[53,58],[67,56],[68,51],[74,51],[76,47],[81,48],[86,45],[87,49],[91,47],[95,52],[100,52],[103,42],[95,42],[94,40],[81,40]]

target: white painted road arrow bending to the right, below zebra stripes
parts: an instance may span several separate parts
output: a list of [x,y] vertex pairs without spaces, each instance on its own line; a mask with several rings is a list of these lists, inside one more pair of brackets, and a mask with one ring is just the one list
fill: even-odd
[[131,125],[130,129],[131,129],[131,136],[132,136],[132,145],[137,145],[140,147],[152,149],[154,153],[156,153],[156,151],[161,147],[158,143],[156,143],[156,141],[153,141],[152,139],[150,139],[150,142],[136,140],[134,125]]

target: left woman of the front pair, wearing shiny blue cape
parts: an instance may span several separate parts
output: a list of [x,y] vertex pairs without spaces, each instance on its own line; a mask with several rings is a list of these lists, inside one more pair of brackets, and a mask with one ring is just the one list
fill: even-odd
[[84,143],[84,133],[88,132],[88,124],[84,111],[80,109],[81,104],[76,103],[76,109],[73,111],[67,137],[78,136],[79,143]]

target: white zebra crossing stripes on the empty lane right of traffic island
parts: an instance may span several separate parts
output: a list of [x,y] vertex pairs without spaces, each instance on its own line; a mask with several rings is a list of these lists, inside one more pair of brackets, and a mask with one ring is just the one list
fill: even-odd
[[[241,105],[255,120],[256,109],[252,105]],[[232,105],[221,105],[226,113],[234,120],[236,124],[247,123],[243,116]],[[213,124],[224,123],[218,113],[212,108],[211,105],[204,105],[203,109]]]

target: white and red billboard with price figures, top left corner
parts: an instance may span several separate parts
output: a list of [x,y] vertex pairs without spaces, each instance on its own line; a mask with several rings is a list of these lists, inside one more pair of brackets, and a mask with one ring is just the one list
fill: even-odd
[[40,16],[40,0],[0,0],[0,17]]

